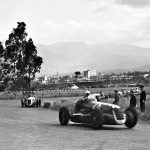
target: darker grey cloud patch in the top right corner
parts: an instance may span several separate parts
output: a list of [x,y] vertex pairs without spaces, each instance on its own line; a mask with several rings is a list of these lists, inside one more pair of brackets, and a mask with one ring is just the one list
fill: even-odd
[[143,8],[150,6],[150,0],[115,0],[116,4],[127,5],[133,8]]

